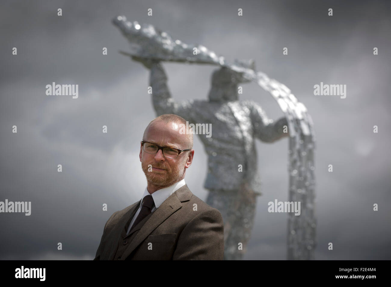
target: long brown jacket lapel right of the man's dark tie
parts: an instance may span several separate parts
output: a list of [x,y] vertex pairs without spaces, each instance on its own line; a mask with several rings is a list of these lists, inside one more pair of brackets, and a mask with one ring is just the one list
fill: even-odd
[[[149,234],[156,227],[158,227],[163,221],[167,219],[171,214],[176,212],[178,209],[182,207],[181,201],[190,200],[192,196],[191,191],[188,189],[187,184],[180,187],[177,191],[172,193],[154,212],[149,214],[145,219],[143,219],[133,230],[129,233],[129,235],[133,234],[136,230],[140,230],[133,240],[130,242],[129,246],[126,248],[124,254],[121,256],[120,260],[125,260],[126,257],[132,253],[135,248],[140,245],[141,242],[147,238]],[[128,225],[129,226],[129,225]],[[126,233],[126,232],[125,232]]]

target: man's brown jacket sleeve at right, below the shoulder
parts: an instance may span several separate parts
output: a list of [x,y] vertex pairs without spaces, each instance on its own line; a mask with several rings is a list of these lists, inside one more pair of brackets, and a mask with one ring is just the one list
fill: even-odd
[[223,260],[224,223],[217,209],[195,216],[182,230],[173,260]]

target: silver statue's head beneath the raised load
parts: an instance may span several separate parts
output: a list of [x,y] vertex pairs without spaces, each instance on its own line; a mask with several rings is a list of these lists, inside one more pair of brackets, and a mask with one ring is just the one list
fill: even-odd
[[243,71],[255,70],[254,60],[235,60],[237,71],[222,66],[213,71],[211,88],[209,91],[209,101],[226,102],[238,100],[238,84],[250,82],[251,79]]

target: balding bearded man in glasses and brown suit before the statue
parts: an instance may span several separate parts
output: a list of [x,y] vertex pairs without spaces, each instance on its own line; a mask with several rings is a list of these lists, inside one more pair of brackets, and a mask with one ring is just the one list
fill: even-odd
[[185,183],[194,157],[186,120],[163,114],[143,134],[140,162],[147,178],[141,200],[114,212],[104,226],[94,260],[223,260],[219,210]]

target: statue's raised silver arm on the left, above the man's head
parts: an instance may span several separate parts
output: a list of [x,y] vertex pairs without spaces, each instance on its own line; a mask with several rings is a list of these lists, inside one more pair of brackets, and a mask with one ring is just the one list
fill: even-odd
[[194,100],[175,102],[167,86],[167,75],[160,62],[152,64],[149,85],[152,87],[152,103],[156,114],[176,114],[188,119]]

